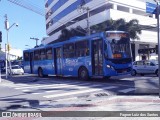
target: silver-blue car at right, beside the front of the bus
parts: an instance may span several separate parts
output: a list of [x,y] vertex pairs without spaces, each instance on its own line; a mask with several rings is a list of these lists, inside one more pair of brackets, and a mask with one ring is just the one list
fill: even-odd
[[131,75],[136,74],[156,74],[158,76],[158,61],[156,60],[140,60],[133,62]]

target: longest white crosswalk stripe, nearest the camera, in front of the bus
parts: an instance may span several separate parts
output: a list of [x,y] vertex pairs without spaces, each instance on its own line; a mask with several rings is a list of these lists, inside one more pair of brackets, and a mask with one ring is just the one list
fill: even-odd
[[89,90],[80,90],[80,91],[74,91],[74,92],[67,92],[67,93],[60,93],[60,94],[54,94],[54,95],[45,95],[43,97],[45,98],[56,98],[56,97],[62,97],[62,96],[67,96],[67,95],[75,95],[75,94],[81,94],[81,93],[88,93],[88,92],[95,92],[95,91],[100,91],[104,89],[112,89],[112,88],[117,88],[116,86],[109,86],[109,87],[102,87],[102,88],[92,88]]

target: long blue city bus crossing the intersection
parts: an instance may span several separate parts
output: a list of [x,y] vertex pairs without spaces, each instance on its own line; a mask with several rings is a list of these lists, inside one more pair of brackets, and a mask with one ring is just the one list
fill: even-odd
[[46,75],[110,78],[131,71],[130,38],[105,31],[23,51],[24,71]]

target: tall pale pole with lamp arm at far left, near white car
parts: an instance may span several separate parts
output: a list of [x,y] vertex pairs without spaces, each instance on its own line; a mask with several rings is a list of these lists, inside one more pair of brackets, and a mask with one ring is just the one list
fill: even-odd
[[[5,29],[7,31],[7,44],[5,44],[5,52],[6,52],[6,79],[8,77],[8,61],[9,61],[9,70],[11,71],[11,63],[10,63],[10,57],[9,57],[9,30],[15,25],[16,27],[18,27],[17,23],[13,23],[11,26],[9,26],[9,22],[8,22],[8,18],[7,18],[7,14],[5,15]],[[7,61],[8,60],[8,61]],[[10,72],[11,73],[11,72]]]

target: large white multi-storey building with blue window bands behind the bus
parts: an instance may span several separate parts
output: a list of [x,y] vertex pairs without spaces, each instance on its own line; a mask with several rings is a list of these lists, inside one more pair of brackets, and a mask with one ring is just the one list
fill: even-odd
[[[147,2],[153,0],[147,0]],[[146,0],[45,0],[46,7],[46,32],[49,38],[42,44],[52,43],[64,28],[80,25],[87,28],[87,11],[80,9],[81,5],[89,8],[90,26],[99,24],[108,19],[117,20],[124,18],[139,20],[142,26],[140,40],[132,40],[132,54],[134,60],[158,59],[157,45],[157,20],[155,15],[146,13]],[[72,22],[76,21],[76,22]]]

